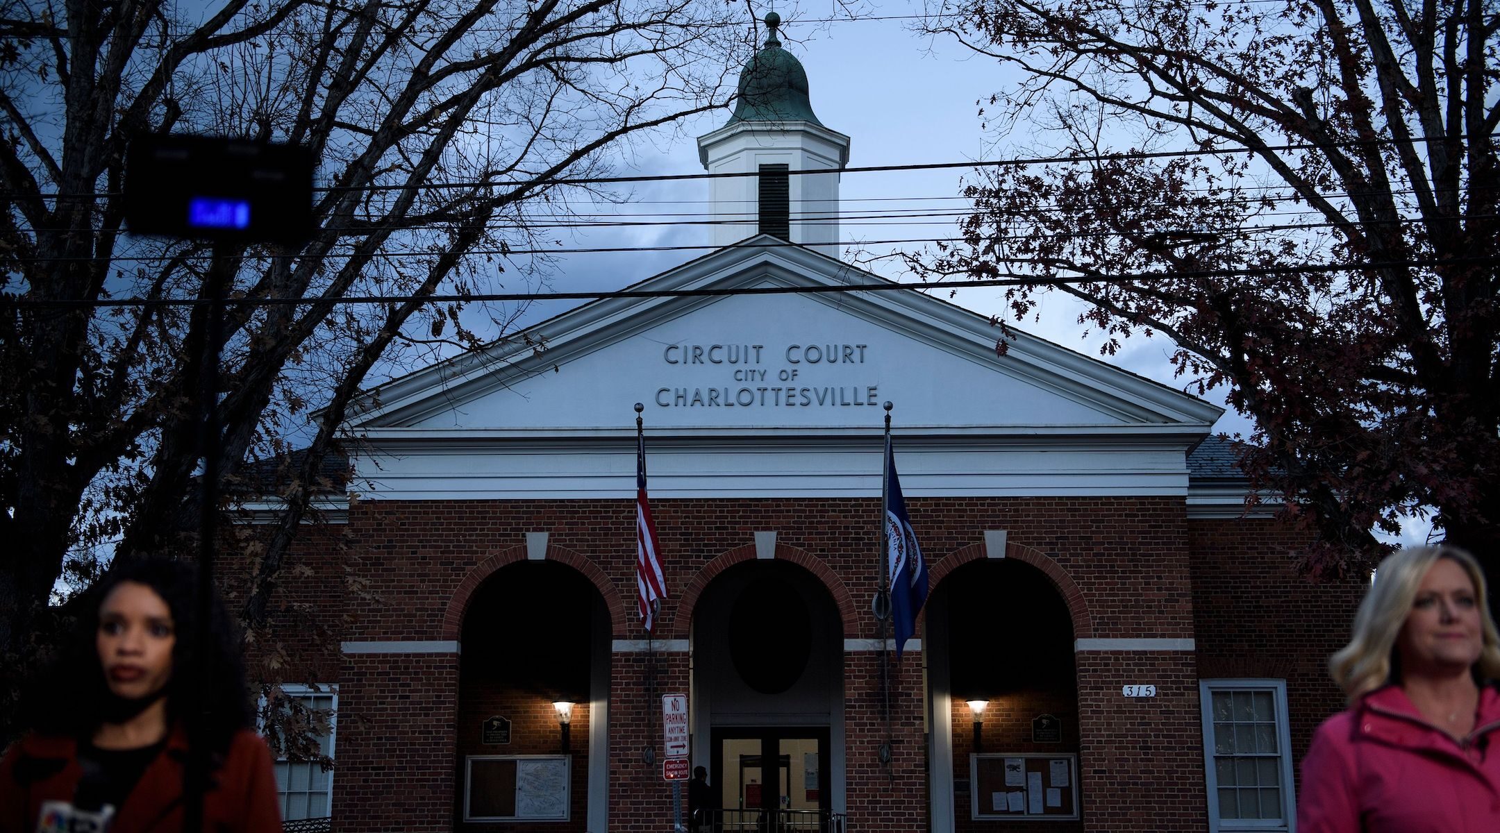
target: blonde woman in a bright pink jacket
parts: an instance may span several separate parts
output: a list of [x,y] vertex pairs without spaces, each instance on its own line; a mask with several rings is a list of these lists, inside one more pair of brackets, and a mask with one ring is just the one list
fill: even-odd
[[1500,638],[1473,556],[1380,562],[1330,668],[1350,707],[1312,736],[1298,833],[1500,830]]

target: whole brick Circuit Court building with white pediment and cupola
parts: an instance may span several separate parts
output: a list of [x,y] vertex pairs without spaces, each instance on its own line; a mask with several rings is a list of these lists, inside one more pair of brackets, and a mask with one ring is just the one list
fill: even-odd
[[[756,174],[711,180],[717,250],[360,402],[279,592],[338,709],[332,772],[279,764],[288,818],[668,832],[684,694],[720,830],[1290,830],[1358,581],[1245,512],[1220,408],[842,262],[849,136],[774,34],[741,90],[699,139]],[[932,587],[900,659],[886,402]]]

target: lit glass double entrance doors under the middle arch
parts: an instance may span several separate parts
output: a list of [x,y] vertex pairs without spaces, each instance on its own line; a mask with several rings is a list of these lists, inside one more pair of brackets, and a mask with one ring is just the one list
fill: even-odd
[[[828,728],[717,728],[710,784],[716,830],[820,832],[828,821]],[[717,781],[716,781],[717,779]]]

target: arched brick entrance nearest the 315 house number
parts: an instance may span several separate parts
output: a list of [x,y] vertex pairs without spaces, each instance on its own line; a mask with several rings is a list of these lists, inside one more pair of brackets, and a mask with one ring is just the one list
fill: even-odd
[[1052,580],[1017,559],[954,568],[924,647],[934,833],[1082,832],[1072,617]]

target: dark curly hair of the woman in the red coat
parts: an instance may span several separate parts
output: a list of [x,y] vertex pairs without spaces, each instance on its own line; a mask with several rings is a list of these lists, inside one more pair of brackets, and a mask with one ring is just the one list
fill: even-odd
[[[146,584],[166,602],[177,641],[166,683],[168,722],[188,721],[201,739],[225,751],[242,728],[252,725],[249,689],[240,656],[238,629],[214,592],[208,622],[198,622],[198,568],[192,562],[148,557],[117,563],[78,599],[78,626],[58,658],[51,682],[38,689],[34,725],[46,734],[87,737],[99,728],[110,688],[99,662],[99,608],[126,581]],[[207,680],[207,688],[201,688]],[[204,703],[207,697],[207,703]]]

